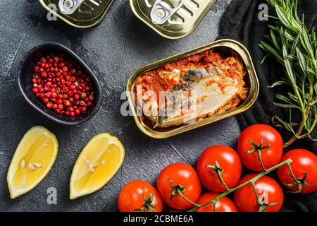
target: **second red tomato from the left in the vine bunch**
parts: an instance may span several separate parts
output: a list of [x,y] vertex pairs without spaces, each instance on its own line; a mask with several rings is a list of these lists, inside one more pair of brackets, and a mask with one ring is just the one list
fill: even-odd
[[[197,172],[185,163],[175,163],[165,167],[157,179],[157,189],[163,201],[177,210],[185,210],[192,206],[192,203],[185,198],[196,202],[201,194],[201,184]],[[175,189],[178,192],[171,198]]]

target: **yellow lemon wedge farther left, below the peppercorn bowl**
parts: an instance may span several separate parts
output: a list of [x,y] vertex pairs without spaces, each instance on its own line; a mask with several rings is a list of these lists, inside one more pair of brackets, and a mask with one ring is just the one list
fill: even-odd
[[11,198],[32,190],[49,173],[58,153],[56,136],[42,126],[32,127],[11,160],[7,181]]

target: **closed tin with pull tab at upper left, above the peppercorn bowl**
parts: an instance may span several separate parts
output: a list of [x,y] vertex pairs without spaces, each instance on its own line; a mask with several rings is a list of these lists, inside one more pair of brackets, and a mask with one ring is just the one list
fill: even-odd
[[113,0],[39,0],[47,11],[75,28],[101,23]]

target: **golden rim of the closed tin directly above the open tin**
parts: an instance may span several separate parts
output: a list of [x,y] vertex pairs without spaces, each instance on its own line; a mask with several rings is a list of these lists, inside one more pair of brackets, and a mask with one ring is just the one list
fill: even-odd
[[192,25],[192,27],[190,29],[179,30],[178,32],[172,32],[172,31],[168,31],[168,30],[165,30],[163,28],[160,28],[159,25],[152,23],[149,20],[149,18],[147,18],[147,16],[145,16],[144,13],[142,13],[141,9],[138,6],[137,1],[138,0],[130,0],[130,8],[132,9],[132,12],[135,14],[135,16],[137,16],[137,18],[139,18],[139,20],[142,20],[143,23],[145,23],[147,26],[149,26],[149,28],[154,30],[156,33],[158,33],[162,37],[166,37],[170,40],[178,40],[178,39],[181,39],[183,37],[187,37],[192,32],[194,32],[194,30],[197,28],[199,23],[201,23],[201,20],[203,20],[203,18],[209,12],[211,7],[216,3],[216,0],[210,0],[208,6],[206,6],[206,8],[204,8],[204,10],[202,10],[199,13],[198,18],[194,21],[194,25]]

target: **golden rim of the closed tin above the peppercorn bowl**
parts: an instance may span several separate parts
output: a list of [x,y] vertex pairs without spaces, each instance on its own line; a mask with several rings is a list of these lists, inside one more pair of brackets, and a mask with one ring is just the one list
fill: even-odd
[[[49,4],[51,4],[51,0],[39,0],[39,3],[46,9],[46,11],[49,11],[49,13],[52,13],[54,16],[57,16],[57,18],[63,20],[65,23],[67,23],[68,25],[74,27],[74,28],[92,28],[94,26],[99,25],[99,23],[102,22],[102,20],[104,20],[104,17],[106,16],[106,13],[108,12],[111,4],[113,3],[113,0],[108,0],[106,2],[106,6],[104,6],[104,11],[101,14],[101,16],[99,16],[97,19],[95,20],[89,20],[91,22],[85,24],[80,24],[79,20],[75,20],[73,19],[73,21],[70,21],[68,18],[71,18],[71,16],[68,15],[64,15],[63,13],[61,13],[61,11],[58,10],[58,6],[56,5],[56,11],[52,10],[51,8],[49,8]],[[77,23],[76,23],[77,21]]]

